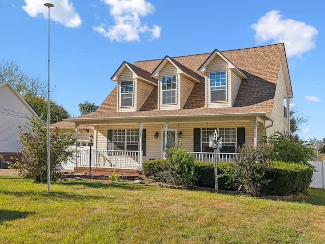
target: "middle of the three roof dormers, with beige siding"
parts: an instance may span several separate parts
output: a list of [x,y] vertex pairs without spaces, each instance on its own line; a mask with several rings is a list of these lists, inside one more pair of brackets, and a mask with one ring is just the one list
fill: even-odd
[[166,56],[153,71],[158,80],[158,110],[182,109],[194,85],[202,77],[175,59]]

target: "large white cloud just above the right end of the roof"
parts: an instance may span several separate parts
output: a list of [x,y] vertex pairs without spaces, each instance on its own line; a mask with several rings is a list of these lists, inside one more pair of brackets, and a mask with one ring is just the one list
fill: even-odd
[[283,19],[280,11],[272,10],[261,17],[251,28],[256,31],[258,42],[284,43],[288,57],[298,56],[316,46],[318,34],[314,26],[293,19]]

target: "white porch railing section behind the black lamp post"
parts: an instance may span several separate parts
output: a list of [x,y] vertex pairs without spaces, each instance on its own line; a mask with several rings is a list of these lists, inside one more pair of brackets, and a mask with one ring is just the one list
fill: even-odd
[[[90,150],[77,150],[76,166],[89,167]],[[91,150],[91,167],[142,169],[141,151]]]

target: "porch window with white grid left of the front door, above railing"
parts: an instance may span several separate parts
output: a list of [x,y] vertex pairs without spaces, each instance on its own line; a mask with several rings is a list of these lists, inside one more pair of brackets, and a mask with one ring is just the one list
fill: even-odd
[[139,150],[139,130],[114,130],[113,150]]

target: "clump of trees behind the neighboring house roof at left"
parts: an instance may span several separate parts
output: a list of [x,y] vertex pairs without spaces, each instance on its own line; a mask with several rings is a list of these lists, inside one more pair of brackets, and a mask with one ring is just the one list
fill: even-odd
[[[9,82],[22,98],[29,103],[44,119],[47,117],[47,82],[39,76],[29,77],[15,62],[0,62],[0,82]],[[70,117],[69,112],[50,101],[50,123]]]

